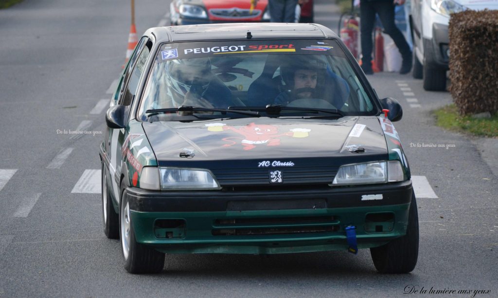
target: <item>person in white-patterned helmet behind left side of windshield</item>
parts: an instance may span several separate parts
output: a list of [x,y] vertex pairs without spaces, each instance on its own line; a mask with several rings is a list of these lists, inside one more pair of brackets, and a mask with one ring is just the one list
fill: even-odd
[[232,93],[211,72],[209,58],[176,59],[167,62],[170,107],[227,108]]

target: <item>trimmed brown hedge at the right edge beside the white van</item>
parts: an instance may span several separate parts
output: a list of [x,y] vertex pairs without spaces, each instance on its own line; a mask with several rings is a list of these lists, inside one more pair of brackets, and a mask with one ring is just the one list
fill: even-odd
[[450,92],[460,115],[498,112],[498,10],[451,15]]

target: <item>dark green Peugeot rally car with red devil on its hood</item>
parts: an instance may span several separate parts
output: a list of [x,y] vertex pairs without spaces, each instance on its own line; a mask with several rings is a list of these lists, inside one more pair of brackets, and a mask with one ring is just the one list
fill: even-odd
[[106,114],[104,232],[131,273],[165,254],[362,248],[379,272],[410,272],[401,116],[322,25],[148,29]]

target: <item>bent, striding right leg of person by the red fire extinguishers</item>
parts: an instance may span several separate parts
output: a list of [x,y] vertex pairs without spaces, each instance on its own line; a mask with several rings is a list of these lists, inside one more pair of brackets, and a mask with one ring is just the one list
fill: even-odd
[[376,3],[378,3],[377,13],[382,22],[382,26],[384,27],[384,32],[391,36],[403,58],[403,63],[399,72],[401,74],[408,73],[411,70],[412,63],[411,50],[403,33],[401,33],[394,23],[394,4],[390,1],[377,1]]

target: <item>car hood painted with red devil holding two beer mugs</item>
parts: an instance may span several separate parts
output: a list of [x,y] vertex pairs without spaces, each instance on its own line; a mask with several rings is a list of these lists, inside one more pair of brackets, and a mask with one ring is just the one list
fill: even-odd
[[[142,126],[159,164],[187,160],[387,158],[386,141],[377,117],[338,120],[261,117],[191,123],[144,122]],[[352,152],[355,147],[365,151]]]

